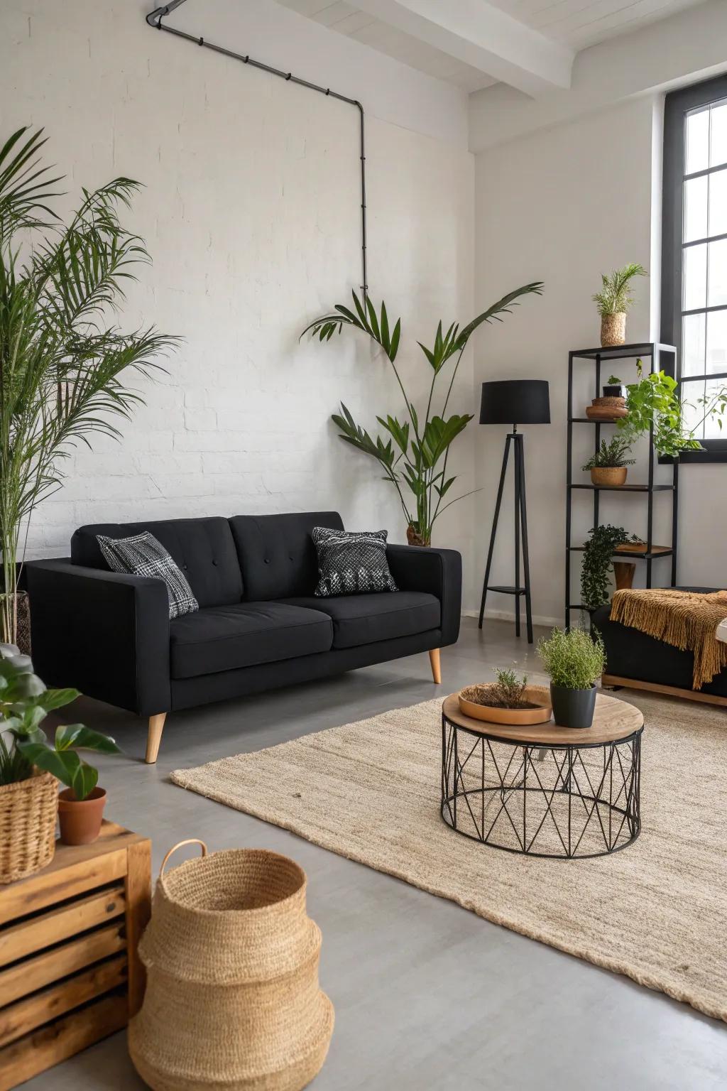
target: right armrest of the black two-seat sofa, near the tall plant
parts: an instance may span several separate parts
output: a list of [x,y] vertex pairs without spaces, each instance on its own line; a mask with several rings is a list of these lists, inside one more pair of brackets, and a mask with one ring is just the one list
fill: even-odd
[[455,644],[462,613],[462,558],[453,549],[387,546],[386,559],[402,591],[427,591],[441,607],[441,646]]

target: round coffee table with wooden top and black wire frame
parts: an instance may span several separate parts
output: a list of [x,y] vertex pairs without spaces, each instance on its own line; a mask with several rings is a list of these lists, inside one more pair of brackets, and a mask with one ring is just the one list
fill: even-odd
[[641,831],[633,705],[599,693],[591,728],[510,728],[441,706],[441,817],[464,837],[531,856],[603,856]]

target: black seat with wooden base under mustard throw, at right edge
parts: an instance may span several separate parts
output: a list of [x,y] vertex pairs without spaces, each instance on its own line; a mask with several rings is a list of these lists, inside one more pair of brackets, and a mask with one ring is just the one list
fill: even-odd
[[[712,591],[713,587],[677,587],[678,591]],[[605,686],[669,692],[707,704],[727,703],[727,671],[720,671],[701,690],[692,688],[694,656],[657,640],[630,625],[610,620],[610,604],[599,607],[592,623],[606,648]]]

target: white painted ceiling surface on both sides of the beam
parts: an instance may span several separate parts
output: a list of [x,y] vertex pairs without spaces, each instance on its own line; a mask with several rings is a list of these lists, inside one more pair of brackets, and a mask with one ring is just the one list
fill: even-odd
[[[478,91],[496,83],[486,71],[422,41],[348,0],[277,0],[308,19],[346,34],[428,75]],[[447,0],[441,0],[443,11]],[[578,52],[619,34],[666,19],[702,0],[483,0],[546,39]],[[725,0],[727,2],[727,0]],[[544,43],[547,45],[547,43]]]

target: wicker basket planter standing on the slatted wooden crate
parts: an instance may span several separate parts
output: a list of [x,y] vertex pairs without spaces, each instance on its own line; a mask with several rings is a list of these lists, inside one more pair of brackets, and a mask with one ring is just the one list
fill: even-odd
[[27,780],[0,786],[0,883],[40,871],[56,852],[58,781],[35,770]]

